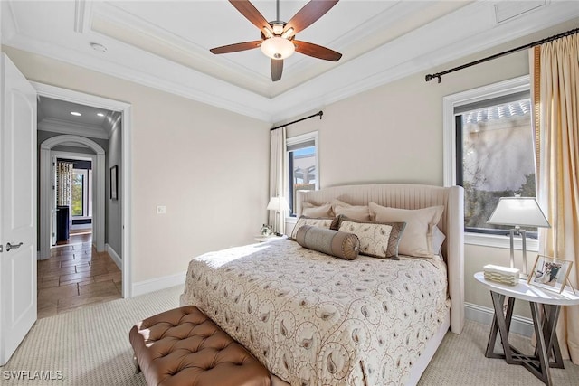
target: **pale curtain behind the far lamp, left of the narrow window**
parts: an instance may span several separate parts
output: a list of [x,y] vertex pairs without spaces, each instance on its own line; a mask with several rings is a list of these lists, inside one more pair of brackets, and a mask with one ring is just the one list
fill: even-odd
[[[285,182],[285,159],[286,159],[286,127],[271,130],[270,146],[270,197],[284,195]],[[269,211],[269,224],[280,233],[285,233],[287,213]],[[276,224],[277,221],[277,224]]]

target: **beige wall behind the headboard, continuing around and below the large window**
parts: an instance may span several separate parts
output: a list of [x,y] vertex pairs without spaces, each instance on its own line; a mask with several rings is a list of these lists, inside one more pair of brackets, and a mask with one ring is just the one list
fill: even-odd
[[[527,36],[427,72],[444,71],[489,54],[565,32],[576,27],[577,23],[578,20],[574,20],[561,24],[549,31]],[[440,84],[436,80],[425,82],[425,73],[396,80],[328,105],[322,108],[322,120],[308,119],[288,127],[288,137],[318,130],[319,178],[322,187],[375,182],[443,184],[442,98],[528,74],[528,56],[523,51],[488,61],[443,76]],[[311,112],[317,111],[318,108]],[[508,254],[508,249],[465,246],[466,302],[492,306],[488,291],[479,287],[472,276],[489,263],[508,265]],[[533,252],[528,253],[528,259],[529,264],[534,261]],[[527,307],[519,307],[517,312],[519,315],[529,315]]]

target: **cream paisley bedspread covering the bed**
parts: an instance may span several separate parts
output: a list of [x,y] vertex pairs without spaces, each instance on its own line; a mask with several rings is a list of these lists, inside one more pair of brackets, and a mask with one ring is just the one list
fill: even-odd
[[291,385],[403,384],[448,312],[440,259],[355,260],[292,240],[189,263],[195,305]]

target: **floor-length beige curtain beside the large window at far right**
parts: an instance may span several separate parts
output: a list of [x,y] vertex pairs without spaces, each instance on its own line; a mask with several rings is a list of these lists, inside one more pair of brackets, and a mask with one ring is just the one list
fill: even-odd
[[[541,252],[574,261],[579,274],[579,35],[530,51],[535,107],[537,197],[551,223],[540,230]],[[557,335],[561,353],[579,364],[579,306],[565,306]]]

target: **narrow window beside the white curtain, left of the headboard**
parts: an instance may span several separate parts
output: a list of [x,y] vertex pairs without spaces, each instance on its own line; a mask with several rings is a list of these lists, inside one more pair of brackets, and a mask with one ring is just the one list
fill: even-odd
[[299,190],[313,191],[319,187],[318,132],[290,137],[286,141],[288,165],[288,203],[290,215],[296,215],[296,198]]

